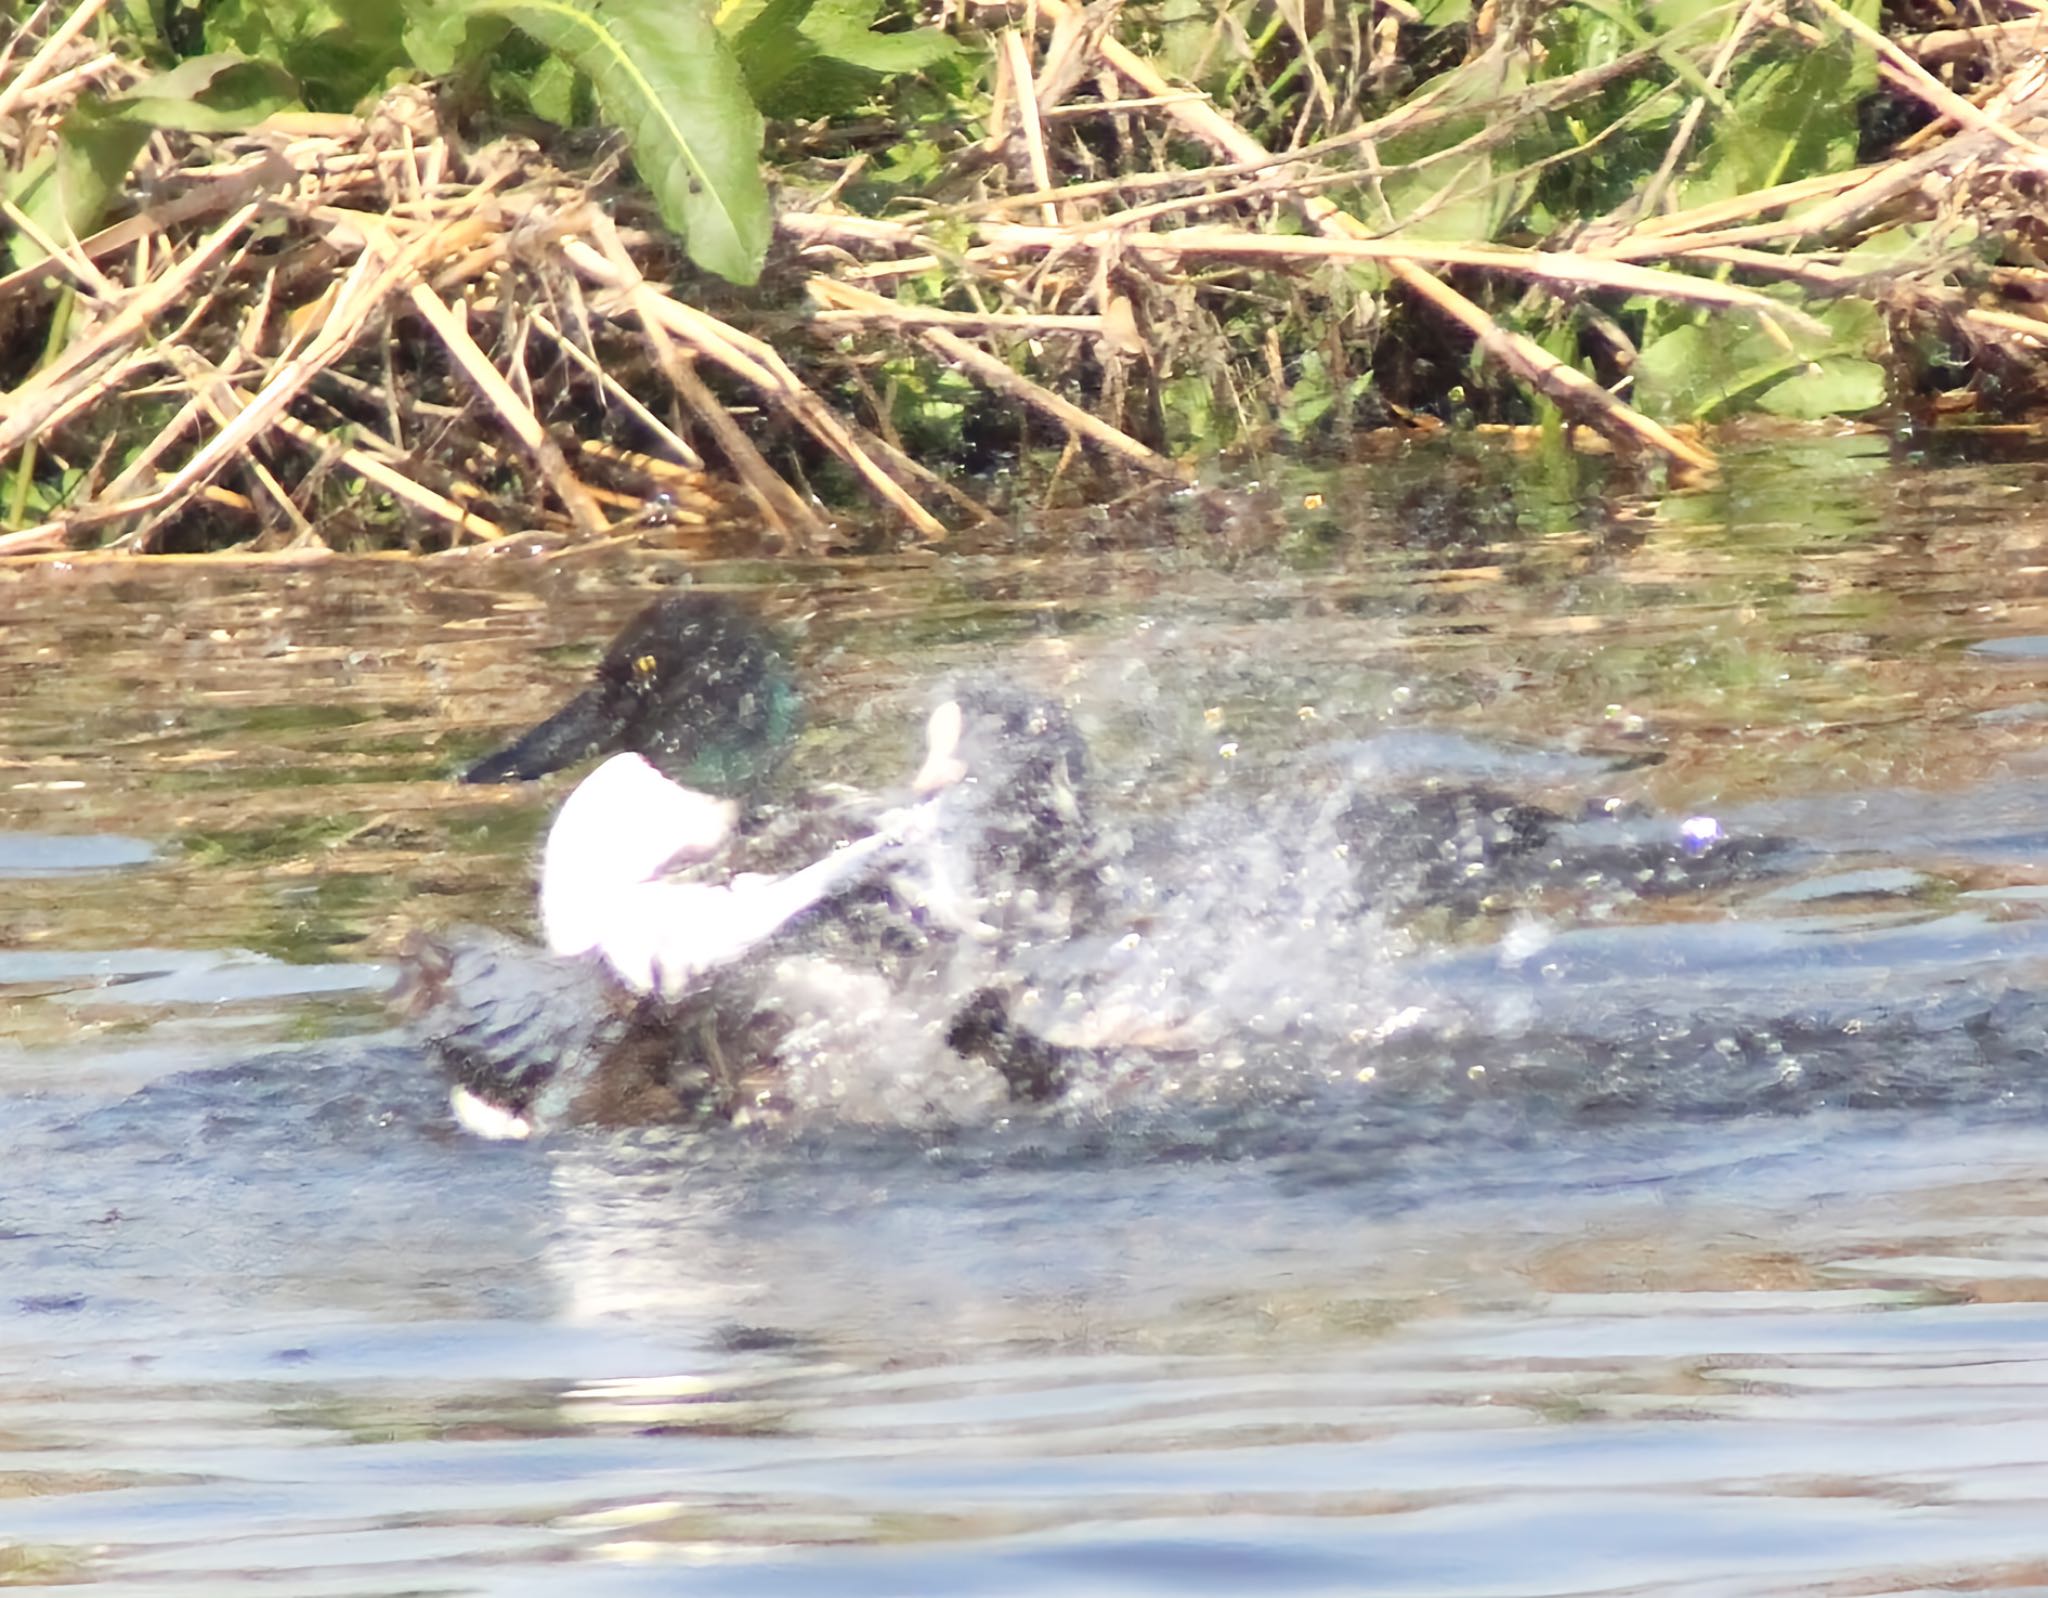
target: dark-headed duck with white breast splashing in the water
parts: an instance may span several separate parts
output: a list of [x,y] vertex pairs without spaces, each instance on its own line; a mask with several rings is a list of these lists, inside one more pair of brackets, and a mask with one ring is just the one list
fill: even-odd
[[590,688],[465,772],[530,781],[602,756],[549,828],[539,944],[457,928],[403,951],[393,1002],[463,1127],[774,1112],[791,1078],[844,1086],[844,1061],[805,1065],[844,1055],[846,1024],[891,1037],[893,1067],[926,1055],[975,1078],[969,1096],[1053,1092],[1055,1059],[973,983],[1087,899],[1085,748],[1065,713],[969,684],[940,695],[897,793],[756,803],[795,725],[772,633],[678,594],[627,623]]

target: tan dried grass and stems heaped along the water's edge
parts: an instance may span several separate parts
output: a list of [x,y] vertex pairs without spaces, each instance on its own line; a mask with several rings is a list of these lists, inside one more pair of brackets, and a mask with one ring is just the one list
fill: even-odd
[[[92,12],[92,0],[63,16],[45,6],[0,53],[10,164],[53,135],[76,94],[125,82],[129,70],[86,37]],[[1010,18],[999,6],[981,14]],[[1391,8],[1376,25],[1374,59],[1391,59],[1401,14]],[[1178,483],[1182,465],[1130,416],[1143,410],[1137,395],[1196,359],[1190,279],[1300,285],[1341,262],[1384,270],[1573,424],[1681,471],[1712,469],[1704,440],[1501,326],[1446,275],[1520,281],[1567,301],[1655,295],[1765,326],[1800,313],[1757,285],[1792,281],[1939,324],[1985,359],[2040,365],[2040,285],[2015,272],[2007,301],[1987,303],[1952,272],[1960,246],[1948,244],[2040,242],[2048,31],[2028,20],[1901,43],[1872,35],[1888,82],[1937,117],[1876,166],[1694,213],[1661,213],[1645,197],[1530,250],[1386,238],[1327,197],[1356,188],[1362,170],[1384,172],[1378,145],[1448,107],[1423,96],[1333,131],[1305,119],[1300,148],[1270,152],[1124,47],[1112,20],[1114,8],[1036,0],[997,27],[991,129],[944,201],[874,219],[836,191],[809,209],[784,197],[778,270],[795,266],[813,311],[797,324],[786,311],[758,316],[784,342],[807,340],[809,365],[795,367],[760,330],[735,326],[739,311],[721,320],[690,303],[670,244],[614,221],[629,207],[600,176],[561,172],[532,145],[467,152],[420,90],[393,92],[367,119],[158,137],[135,174],[133,215],[86,240],[45,240],[49,260],[0,277],[10,336],[47,326],[53,299],[68,305],[61,340],[0,395],[0,483],[53,459],[76,477],[61,510],[0,533],[0,555],[94,543],[143,551],[199,506],[227,516],[250,547],[311,549],[348,496],[369,496],[385,520],[436,545],[537,529],[598,541],[649,522],[676,537],[733,520],[758,520],[797,553],[831,545],[831,516],[764,455],[758,418],[741,414],[754,408],[844,463],[909,537],[938,541],[940,510],[993,516],[909,457],[885,406],[864,424],[805,371],[836,371],[842,389],[858,389],[877,350],[918,348],[1118,469]],[[1802,37],[1823,25],[1860,27],[1833,0],[1745,16],[1745,27]],[[1958,61],[1976,72],[1970,94],[1929,70],[1954,80]],[[1595,92],[1618,70],[1626,61],[1511,96],[1481,141]],[[1327,111],[1341,96],[1319,90],[1313,102]],[[1108,129],[1124,170],[1090,170],[1071,137],[1083,125]],[[1667,166],[1692,133],[1681,119]],[[1214,164],[1141,170],[1169,137],[1206,145]],[[1913,260],[1878,285],[1843,264],[1855,242],[1903,219],[1931,225]],[[952,275],[975,309],[905,297],[934,270]],[[129,428],[119,447],[104,422],[115,410]],[[137,418],[147,436],[133,436]],[[610,426],[631,447],[608,440]]]

